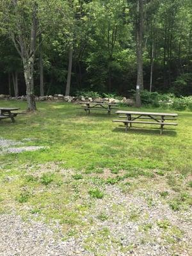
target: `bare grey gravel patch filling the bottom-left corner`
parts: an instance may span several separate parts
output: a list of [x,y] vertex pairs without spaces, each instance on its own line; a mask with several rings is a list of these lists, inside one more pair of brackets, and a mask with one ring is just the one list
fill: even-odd
[[0,237],[1,256],[88,255],[75,239],[56,241],[54,232],[44,223],[27,223],[13,214],[0,215]]

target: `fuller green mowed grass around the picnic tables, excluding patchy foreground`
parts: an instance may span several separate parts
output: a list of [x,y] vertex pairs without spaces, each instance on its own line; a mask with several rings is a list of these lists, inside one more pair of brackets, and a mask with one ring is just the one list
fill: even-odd
[[[2,100],[0,106],[24,110],[26,102]],[[15,124],[3,120],[0,134],[18,141],[35,139],[28,145],[45,145],[49,150],[0,156],[1,163],[62,161],[66,168],[77,170],[141,167],[184,171],[191,166],[192,113],[180,112],[179,125],[165,127],[163,136],[159,136],[156,125],[133,125],[126,134],[123,125],[118,127],[111,122],[115,113],[108,116],[98,111],[86,116],[76,104],[41,102],[37,108],[36,113],[17,116]],[[142,109],[145,110],[163,111]]]

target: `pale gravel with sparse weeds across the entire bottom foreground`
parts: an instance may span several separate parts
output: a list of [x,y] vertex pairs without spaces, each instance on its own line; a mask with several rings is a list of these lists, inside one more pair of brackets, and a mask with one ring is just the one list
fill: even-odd
[[[191,255],[190,212],[173,212],[155,193],[150,194],[155,199],[154,206],[149,207],[145,200],[145,196],[149,196],[147,191],[142,196],[124,195],[116,186],[106,186],[106,192],[109,197],[95,200],[95,207],[88,212],[87,218],[93,218],[90,228],[79,231],[76,238],[70,237],[67,241],[62,241],[62,227],[58,224],[53,231],[51,226],[40,221],[25,222],[14,214],[0,215],[0,255]],[[100,212],[108,219],[99,220]],[[165,219],[170,221],[170,227],[158,227],[157,221]],[[152,226],[144,231],[142,228],[147,223]],[[104,230],[109,230],[107,236]],[[174,230],[180,230],[182,235]]]

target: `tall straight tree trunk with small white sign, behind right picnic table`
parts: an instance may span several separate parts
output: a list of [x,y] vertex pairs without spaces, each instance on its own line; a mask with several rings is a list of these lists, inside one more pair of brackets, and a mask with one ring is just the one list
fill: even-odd
[[143,90],[143,0],[138,0],[136,20],[137,83],[136,106],[140,108],[140,91]]

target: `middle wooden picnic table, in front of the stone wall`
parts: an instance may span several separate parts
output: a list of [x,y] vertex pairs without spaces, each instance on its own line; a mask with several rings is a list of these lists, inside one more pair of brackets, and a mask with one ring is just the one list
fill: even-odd
[[86,111],[86,115],[89,113],[90,110],[104,110],[108,111],[108,115],[111,114],[111,111],[113,109],[116,109],[115,107],[118,106],[117,104],[114,103],[101,103],[101,102],[79,102],[80,104],[84,104],[85,106],[82,106],[81,109],[84,109]]

